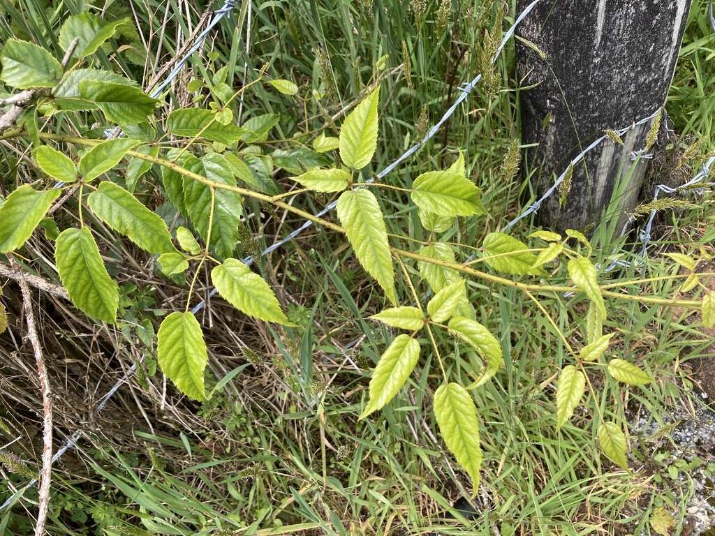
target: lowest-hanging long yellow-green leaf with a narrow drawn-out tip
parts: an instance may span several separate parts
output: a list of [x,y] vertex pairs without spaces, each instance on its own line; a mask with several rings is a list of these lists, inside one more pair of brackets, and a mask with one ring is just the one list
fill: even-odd
[[445,444],[472,479],[472,496],[479,490],[482,449],[477,409],[460,384],[441,384],[435,392],[435,417]]

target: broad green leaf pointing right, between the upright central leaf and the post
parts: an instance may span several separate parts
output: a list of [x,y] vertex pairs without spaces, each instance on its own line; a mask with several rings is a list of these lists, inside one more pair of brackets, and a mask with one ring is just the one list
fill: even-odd
[[411,195],[420,209],[441,216],[485,214],[480,189],[458,173],[423,173],[415,179]]

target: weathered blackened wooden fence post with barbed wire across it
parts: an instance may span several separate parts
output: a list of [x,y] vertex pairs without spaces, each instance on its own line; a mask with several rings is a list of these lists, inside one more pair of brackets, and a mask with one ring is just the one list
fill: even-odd
[[[521,11],[528,0],[518,0]],[[517,45],[524,143],[543,193],[568,163],[605,129],[627,126],[664,104],[691,0],[542,0],[518,28],[533,47]],[[533,87],[531,87],[533,86]],[[644,147],[650,123],[607,140],[574,168],[563,207],[551,196],[539,212],[555,229],[598,222],[624,157]],[[621,210],[636,204],[647,160],[633,172]],[[627,169],[627,168],[626,168]]]

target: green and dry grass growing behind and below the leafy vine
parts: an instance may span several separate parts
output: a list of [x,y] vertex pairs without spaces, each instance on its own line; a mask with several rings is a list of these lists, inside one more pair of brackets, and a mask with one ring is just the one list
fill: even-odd
[[[693,4],[667,108],[679,134],[700,139],[711,150],[712,37],[704,15],[706,2]],[[495,24],[493,12],[483,16],[480,2],[457,2],[448,30],[441,29],[436,22],[439,6],[420,8],[423,5],[419,0],[254,5],[252,44],[246,54],[249,8],[241,2],[235,19],[222,21],[212,35],[210,52],[192,56],[192,75],[175,84],[169,106],[189,105],[195,96],[187,89],[192,76],[211,79],[227,66],[227,79],[241,79],[247,62],[250,80],[268,64],[272,77],[292,79],[326,95],[332,85],[335,96],[290,101],[257,84],[243,104],[235,106],[235,115],[281,113],[276,139],[324,126],[327,134],[335,135],[345,111],[379,79],[383,101],[373,170],[382,169],[420,137],[425,124],[438,119],[460,83],[478,71],[483,31]],[[0,41],[21,36],[59,54],[54,36],[61,20],[85,7],[73,0],[52,5],[42,0],[11,2],[0,8]],[[515,6],[509,7],[513,14]],[[420,9],[425,11],[420,14]],[[179,0],[115,2],[107,16],[130,16],[139,34],[127,34],[114,44],[124,46],[124,54],[102,53],[97,61],[148,81],[154,66],[182,46],[200,11],[194,3]],[[144,58],[146,46],[152,54],[161,52]],[[319,50],[325,58],[322,65],[317,61]],[[388,177],[390,184],[409,187],[416,174],[450,164],[458,148],[463,149],[489,215],[455,227],[444,235],[448,242],[481,244],[485,234],[516,215],[530,192],[528,182],[505,182],[500,173],[504,154],[520,131],[513,46],[507,47],[495,72],[501,77],[496,96],[487,99],[480,86],[433,142]],[[204,89],[203,100],[207,94]],[[293,108],[302,113],[292,113]],[[91,124],[67,116],[58,128],[72,133]],[[297,141],[305,143],[307,138]],[[1,150],[6,154],[6,164],[0,164],[4,184],[20,180],[22,168],[11,164],[16,154],[6,146]],[[140,193],[147,199],[154,197],[152,182],[159,182],[156,169],[143,182]],[[428,239],[405,196],[381,193],[390,232]],[[315,212],[324,200],[314,203],[306,197],[303,208]],[[249,213],[267,213],[263,219],[250,220],[250,231],[261,248],[301,223],[292,216],[270,214],[254,202],[247,201],[247,208]],[[606,216],[593,237],[601,261],[637,245],[634,237],[616,239],[613,222],[619,214],[607,210]],[[63,217],[72,218],[69,211]],[[710,219],[708,204],[666,214],[659,220],[664,239],[653,249],[708,247]],[[583,299],[558,294],[542,298],[557,330],[516,289],[470,282],[478,318],[502,334],[509,358],[496,381],[475,392],[485,462],[476,512],[465,513],[453,505],[464,495],[468,480],[443,447],[432,417],[431,399],[439,382],[430,373],[436,369],[433,355],[425,354],[395,402],[379,415],[357,421],[370,368],[391,335],[366,320],[382,299],[339,237],[311,229],[280,254],[262,259],[262,273],[281,289],[291,319],[300,324],[292,332],[253,324],[212,302],[201,317],[210,327],[209,378],[216,384],[227,374],[235,376],[217,388],[212,399],[194,405],[179,399],[170,387],[164,392],[161,374],[153,370],[151,348],[142,344],[162,311],[177,307],[177,296],[184,299],[182,287],[157,277],[136,249],[117,241],[99,222],[93,224],[112,259],[110,267],[124,280],[127,322],[107,342],[106,334],[93,331],[76,312],[60,304],[48,306],[52,309],[46,315],[46,338],[52,347],[62,349],[61,359],[53,365],[55,381],[70,397],[58,401],[58,430],[70,434],[77,425],[89,429],[78,452],[67,455],[54,472],[47,527],[52,535],[488,535],[498,530],[503,536],[546,536],[649,530],[649,512],[660,491],[648,472],[628,474],[604,461],[593,439],[593,415],[611,412],[615,401],[616,419],[626,422],[633,407],[659,416],[690,399],[683,387],[687,369],[680,364],[704,352],[709,340],[661,307],[609,300],[606,325],[608,332],[616,333],[615,357],[637,362],[657,382],[649,389],[631,389],[623,398],[613,380],[605,377],[600,397],[589,398],[573,422],[555,433],[554,379],[568,361],[561,334],[572,342],[581,337]],[[516,234],[526,236],[530,230],[528,224],[520,224]],[[41,239],[33,248],[36,257],[51,255]],[[415,267],[408,265],[406,270],[425,292]],[[644,272],[631,268],[621,277],[658,277],[668,271],[653,255]],[[565,281],[554,281],[561,283]],[[207,279],[201,284],[207,286]],[[409,296],[408,287],[400,284],[398,294]],[[676,287],[673,280],[664,280],[632,292],[671,296]],[[358,344],[348,347],[355,340]],[[440,342],[450,344],[446,339]],[[19,349],[21,342],[8,342],[9,350],[2,351],[4,375],[14,378],[2,397],[2,418],[14,435],[34,437],[34,386],[21,379],[29,372],[13,361],[13,347]],[[122,387],[97,422],[88,419],[94,393],[104,392],[142,355],[137,381]],[[461,347],[455,347],[448,367],[465,384],[478,373],[478,364]],[[594,376],[594,381],[603,379]],[[26,459],[39,459],[33,441],[16,446]],[[13,488],[26,482],[26,477],[9,471],[3,475]],[[0,489],[0,498],[10,492],[9,485]],[[34,490],[26,491],[23,502],[0,516],[0,532],[30,532],[34,500]],[[676,500],[682,526],[687,494]]]

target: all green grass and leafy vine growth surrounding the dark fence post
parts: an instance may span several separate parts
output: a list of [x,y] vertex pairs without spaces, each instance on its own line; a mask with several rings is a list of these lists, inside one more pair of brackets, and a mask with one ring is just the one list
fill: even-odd
[[[501,232],[531,193],[513,44],[490,63],[515,6],[239,2],[154,99],[191,4],[0,6],[0,99],[34,91],[0,133],[0,532],[31,533],[42,502],[25,487],[42,466],[31,322],[54,450],[85,431],[53,467],[52,535],[683,530],[679,472],[715,468],[671,463],[629,423],[668,435],[673,408],[701,405],[709,200],[656,207],[647,262],[610,275],[596,267],[638,248],[613,209],[588,239]],[[696,0],[668,177],[713,150],[711,41]],[[28,303],[18,270],[46,292]]]

